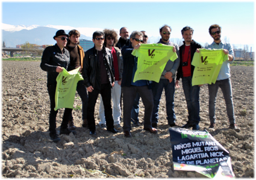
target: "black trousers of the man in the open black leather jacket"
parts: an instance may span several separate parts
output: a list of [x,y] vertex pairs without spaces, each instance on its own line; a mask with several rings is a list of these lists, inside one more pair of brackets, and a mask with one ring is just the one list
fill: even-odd
[[87,121],[88,127],[90,131],[95,131],[95,104],[98,99],[98,95],[101,94],[104,111],[105,111],[105,119],[107,129],[114,127],[114,119],[112,115],[112,107],[111,107],[111,86],[110,83],[101,84],[101,90],[93,89],[92,92],[88,92],[88,104],[87,104]]

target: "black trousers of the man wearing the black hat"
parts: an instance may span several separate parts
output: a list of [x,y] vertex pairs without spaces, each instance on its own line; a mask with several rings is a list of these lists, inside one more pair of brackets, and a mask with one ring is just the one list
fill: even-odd
[[[54,110],[55,107],[55,91],[56,91],[56,85],[47,85],[49,97],[50,97],[50,103],[51,103],[51,111],[49,115],[49,131],[51,134],[56,133],[56,116],[58,113],[58,110]],[[69,122],[69,119],[72,117],[72,109],[65,108],[64,114],[63,114],[63,120],[61,122],[60,128],[67,128],[67,123]]]

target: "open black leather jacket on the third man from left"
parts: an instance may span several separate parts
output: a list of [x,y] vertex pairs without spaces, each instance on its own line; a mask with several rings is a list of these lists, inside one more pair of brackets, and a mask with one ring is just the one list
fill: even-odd
[[[111,50],[103,46],[103,61],[107,69],[108,80],[110,85],[114,82],[114,65],[113,65],[113,56]],[[99,64],[98,64],[98,50],[95,49],[95,46],[84,53],[84,67],[83,67],[83,78],[84,85],[88,88],[92,86],[95,88],[96,82],[96,73],[99,73]]]

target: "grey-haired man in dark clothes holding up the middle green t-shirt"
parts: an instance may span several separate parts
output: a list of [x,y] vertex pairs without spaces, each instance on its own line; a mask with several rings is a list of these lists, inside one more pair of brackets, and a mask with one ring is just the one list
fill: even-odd
[[149,81],[137,80],[133,82],[134,74],[137,70],[138,58],[131,53],[134,49],[139,49],[140,43],[143,42],[143,33],[133,31],[130,35],[130,41],[131,44],[122,49],[123,79],[121,86],[123,89],[123,133],[125,137],[131,137],[131,109],[137,92],[142,97],[145,106],[144,130],[150,133],[157,133],[157,130],[151,126],[153,94],[151,89],[149,89]]

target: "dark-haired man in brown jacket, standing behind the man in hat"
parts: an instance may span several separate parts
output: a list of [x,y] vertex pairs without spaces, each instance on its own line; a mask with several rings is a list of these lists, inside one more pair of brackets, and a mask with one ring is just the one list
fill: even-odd
[[[69,31],[69,40],[67,41],[67,46],[65,47],[70,53],[70,66],[81,66],[83,68],[84,61],[84,50],[83,47],[78,45],[80,43],[80,32],[76,29]],[[83,127],[87,127],[87,90],[86,86],[83,85],[83,80],[78,81],[76,86],[76,91],[81,97],[82,100],[82,119]],[[71,114],[69,124],[69,130],[75,130],[75,125],[73,124],[73,117]]]

